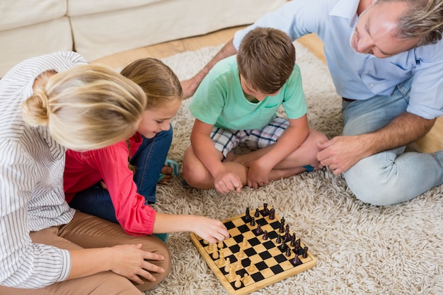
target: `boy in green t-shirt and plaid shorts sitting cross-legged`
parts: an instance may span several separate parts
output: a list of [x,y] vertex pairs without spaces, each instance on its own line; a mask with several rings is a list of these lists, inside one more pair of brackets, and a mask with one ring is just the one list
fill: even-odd
[[[287,120],[276,116],[280,105]],[[193,187],[240,192],[320,168],[317,144],[328,139],[308,127],[295,48],[280,30],[251,30],[238,54],[205,77],[189,108],[196,119],[183,176]],[[237,156],[231,151],[239,144],[255,151]]]

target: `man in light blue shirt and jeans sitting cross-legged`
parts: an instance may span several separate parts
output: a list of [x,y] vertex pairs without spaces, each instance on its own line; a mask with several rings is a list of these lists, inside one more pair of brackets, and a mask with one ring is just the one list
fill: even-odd
[[443,183],[443,151],[404,153],[443,114],[442,0],[297,0],[238,31],[195,77],[191,96],[243,35],[273,27],[293,40],[316,33],[336,91],[343,136],[319,144],[317,158],[343,173],[358,199],[376,205],[413,199]]

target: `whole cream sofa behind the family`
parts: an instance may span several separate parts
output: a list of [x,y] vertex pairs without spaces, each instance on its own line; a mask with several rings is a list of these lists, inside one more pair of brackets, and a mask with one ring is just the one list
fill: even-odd
[[0,77],[28,57],[75,50],[88,61],[253,23],[287,0],[1,0]]

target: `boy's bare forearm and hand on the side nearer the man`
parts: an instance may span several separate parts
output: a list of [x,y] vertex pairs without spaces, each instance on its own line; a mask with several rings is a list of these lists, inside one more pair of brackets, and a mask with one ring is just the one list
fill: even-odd
[[298,119],[289,119],[289,127],[273,144],[269,151],[255,161],[248,163],[248,186],[258,187],[258,183],[269,183],[270,171],[284,158],[292,154],[309,135],[308,117],[305,114]]

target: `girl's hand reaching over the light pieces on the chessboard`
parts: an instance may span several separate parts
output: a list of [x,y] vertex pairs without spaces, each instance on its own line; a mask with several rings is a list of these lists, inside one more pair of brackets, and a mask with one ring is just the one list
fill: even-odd
[[192,231],[209,243],[214,244],[229,238],[229,232],[222,221],[205,216],[198,216],[195,221]]

